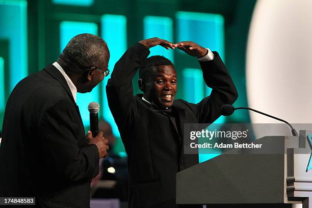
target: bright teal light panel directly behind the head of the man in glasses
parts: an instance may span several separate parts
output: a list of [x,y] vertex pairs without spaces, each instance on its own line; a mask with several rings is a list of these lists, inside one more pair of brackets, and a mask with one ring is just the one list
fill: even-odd
[[[60,51],[62,53],[63,48],[69,42],[69,40],[81,33],[90,33],[97,35],[97,24],[90,22],[73,22],[62,21],[60,23]],[[77,93],[77,106],[79,106],[80,114],[85,126],[90,126],[88,105],[90,102],[98,102],[100,88],[99,85],[93,88],[89,93]],[[100,113],[99,113],[100,114]]]

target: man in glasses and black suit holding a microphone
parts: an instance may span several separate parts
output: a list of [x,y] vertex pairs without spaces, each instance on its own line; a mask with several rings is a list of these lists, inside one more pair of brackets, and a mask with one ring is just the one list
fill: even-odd
[[58,60],[20,81],[6,106],[0,147],[0,197],[35,197],[37,207],[89,207],[90,181],[108,140],[87,137],[76,93],[108,75],[100,37],[73,37]]

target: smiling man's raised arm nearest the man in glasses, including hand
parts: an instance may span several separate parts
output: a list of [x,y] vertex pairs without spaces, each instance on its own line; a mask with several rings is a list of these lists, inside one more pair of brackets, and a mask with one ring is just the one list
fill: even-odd
[[131,122],[137,111],[134,102],[132,79],[141,63],[149,55],[149,48],[161,45],[166,49],[174,48],[174,44],[160,38],[142,40],[130,47],[116,63],[111,79],[106,86],[110,110],[118,127]]

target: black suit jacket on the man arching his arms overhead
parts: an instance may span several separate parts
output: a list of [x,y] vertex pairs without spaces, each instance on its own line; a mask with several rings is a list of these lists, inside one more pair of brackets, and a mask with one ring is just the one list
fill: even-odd
[[232,103],[237,91],[220,57],[199,62],[210,97],[199,103],[177,99],[171,119],[133,95],[132,79],[149,50],[142,44],[129,48],[116,63],[107,85],[109,107],[128,154],[129,207],[174,207],[175,174],[198,163],[197,154],[184,154],[184,123],[211,123],[220,106]]

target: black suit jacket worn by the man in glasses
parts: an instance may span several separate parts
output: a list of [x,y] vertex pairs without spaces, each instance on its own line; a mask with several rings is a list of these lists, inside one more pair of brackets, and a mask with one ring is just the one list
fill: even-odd
[[56,67],[16,85],[2,136],[1,197],[36,197],[39,207],[90,206],[99,154],[96,145],[87,144],[79,108]]

